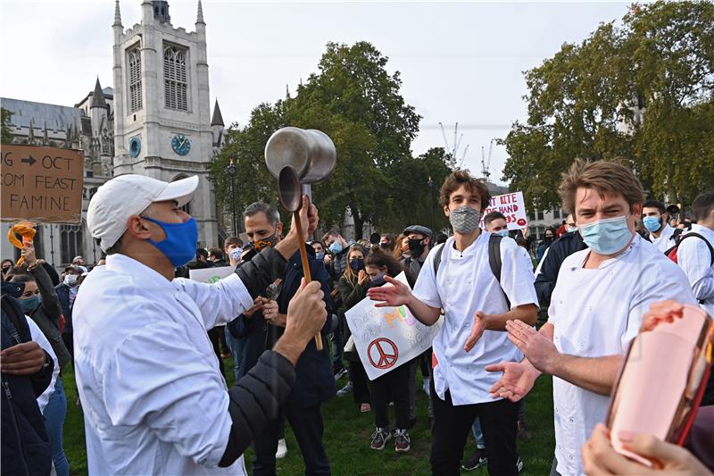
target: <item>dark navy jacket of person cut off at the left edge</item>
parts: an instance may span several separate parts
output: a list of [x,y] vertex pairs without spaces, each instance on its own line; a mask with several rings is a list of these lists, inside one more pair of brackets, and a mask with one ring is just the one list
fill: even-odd
[[[3,283],[5,284],[5,283]],[[29,326],[17,301],[2,296],[3,350],[29,342]],[[52,380],[54,363],[46,355],[49,365],[34,375],[2,373],[2,465],[3,474],[49,474],[52,469],[52,450],[45,429],[45,421],[37,405],[37,397]]]

